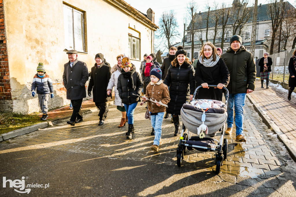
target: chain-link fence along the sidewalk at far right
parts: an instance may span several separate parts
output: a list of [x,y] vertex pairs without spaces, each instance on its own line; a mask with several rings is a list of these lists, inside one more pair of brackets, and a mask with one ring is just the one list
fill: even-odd
[[295,49],[291,49],[290,51],[282,51],[280,53],[272,54],[269,56],[272,59],[270,75],[271,79],[288,83],[288,64],[289,59],[292,57],[294,51]]

